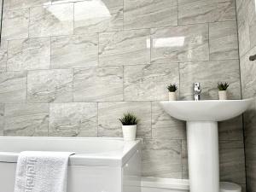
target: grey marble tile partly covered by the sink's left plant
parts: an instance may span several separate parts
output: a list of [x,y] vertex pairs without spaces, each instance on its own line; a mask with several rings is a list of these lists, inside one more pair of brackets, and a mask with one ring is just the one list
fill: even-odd
[[177,63],[125,66],[124,75],[125,101],[167,100],[166,86],[172,83],[179,87]]

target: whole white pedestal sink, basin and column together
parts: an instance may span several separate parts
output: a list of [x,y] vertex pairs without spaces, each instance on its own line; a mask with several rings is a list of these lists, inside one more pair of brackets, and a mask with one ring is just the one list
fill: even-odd
[[166,113],[187,121],[190,192],[219,191],[218,121],[245,112],[247,100],[160,102]]

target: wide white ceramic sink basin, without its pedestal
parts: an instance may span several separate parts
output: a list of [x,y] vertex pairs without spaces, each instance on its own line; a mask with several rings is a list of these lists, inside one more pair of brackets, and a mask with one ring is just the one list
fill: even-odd
[[160,102],[166,113],[185,121],[222,121],[245,112],[253,99]]

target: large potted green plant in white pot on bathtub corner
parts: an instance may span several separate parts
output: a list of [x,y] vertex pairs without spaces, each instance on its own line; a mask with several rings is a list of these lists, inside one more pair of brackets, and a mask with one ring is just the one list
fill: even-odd
[[123,137],[125,141],[134,141],[136,139],[137,124],[139,119],[133,113],[125,113],[119,119],[122,123]]

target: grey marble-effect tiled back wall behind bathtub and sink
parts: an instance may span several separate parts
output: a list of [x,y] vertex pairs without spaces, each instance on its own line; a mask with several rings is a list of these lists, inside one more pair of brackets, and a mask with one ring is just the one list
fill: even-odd
[[[183,122],[159,106],[166,85],[241,98],[234,0],[4,0],[0,51],[5,136],[121,137],[141,119],[143,176],[187,178]],[[221,178],[245,184],[241,117],[220,123]]]

